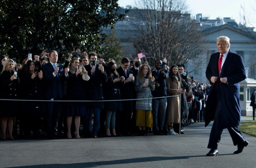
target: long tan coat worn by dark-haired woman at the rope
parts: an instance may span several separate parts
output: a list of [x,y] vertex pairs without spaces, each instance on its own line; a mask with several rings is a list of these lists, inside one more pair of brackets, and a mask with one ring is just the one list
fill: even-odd
[[[179,95],[177,93],[179,85],[179,81],[173,81],[168,77],[166,80],[167,96]],[[167,98],[167,124],[181,122],[179,108],[179,96]]]

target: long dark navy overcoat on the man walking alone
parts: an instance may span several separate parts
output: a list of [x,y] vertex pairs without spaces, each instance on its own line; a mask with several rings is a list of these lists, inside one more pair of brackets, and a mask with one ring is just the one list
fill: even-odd
[[[210,81],[212,76],[218,76],[218,60],[220,53],[214,53],[211,55],[209,64],[206,68],[206,77]],[[227,83],[219,81],[220,78],[226,77]],[[218,88],[216,90],[216,83],[213,84],[209,92],[206,111],[205,111],[205,126],[207,126],[211,120],[214,120],[215,110],[217,106],[216,94],[221,101],[221,121],[220,127],[230,128],[240,125],[241,110],[239,103],[239,82],[246,78],[245,66],[243,59],[238,54],[232,53],[229,50],[226,60],[222,66],[221,74],[218,77]]]

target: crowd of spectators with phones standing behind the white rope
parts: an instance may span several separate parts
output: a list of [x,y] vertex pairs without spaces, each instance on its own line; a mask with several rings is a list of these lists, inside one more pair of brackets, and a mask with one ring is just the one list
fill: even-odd
[[166,59],[151,68],[124,57],[117,67],[77,49],[64,65],[55,50],[22,64],[0,60],[1,140],[178,135],[204,121],[210,85]]

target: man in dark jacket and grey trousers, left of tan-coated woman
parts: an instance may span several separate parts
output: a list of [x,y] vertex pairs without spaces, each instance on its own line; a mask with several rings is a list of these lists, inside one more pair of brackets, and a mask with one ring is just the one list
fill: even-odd
[[[163,69],[162,69],[163,68]],[[152,71],[152,76],[155,78],[155,90],[152,91],[152,115],[153,115],[153,133],[154,135],[164,135],[163,125],[165,123],[165,112],[167,107],[166,94],[166,79],[169,76],[169,71],[164,70],[162,67],[162,61],[160,59],[155,60],[155,70]]]

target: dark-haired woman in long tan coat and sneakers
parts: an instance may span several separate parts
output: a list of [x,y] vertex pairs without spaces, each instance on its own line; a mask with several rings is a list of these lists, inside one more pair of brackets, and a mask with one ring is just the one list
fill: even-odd
[[167,128],[168,135],[178,135],[173,131],[173,123],[180,123],[181,116],[179,114],[179,94],[185,93],[185,90],[180,89],[179,85],[178,66],[173,65],[170,68],[169,77],[166,80],[167,96],[174,96],[167,98]]

